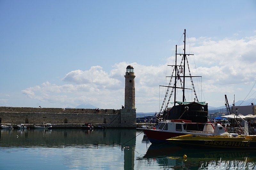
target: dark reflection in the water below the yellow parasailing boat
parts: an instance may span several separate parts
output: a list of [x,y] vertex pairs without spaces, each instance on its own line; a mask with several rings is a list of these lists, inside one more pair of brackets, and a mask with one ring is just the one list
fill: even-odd
[[[184,154],[187,159],[183,158]],[[138,165],[158,165],[160,169],[256,169],[256,152],[252,150],[182,149],[169,144],[151,144],[137,160]]]

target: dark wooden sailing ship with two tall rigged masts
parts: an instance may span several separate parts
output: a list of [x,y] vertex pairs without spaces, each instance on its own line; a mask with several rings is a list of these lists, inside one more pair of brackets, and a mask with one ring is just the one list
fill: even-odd
[[[208,103],[205,103],[204,101],[199,102],[196,95],[196,90],[195,90],[195,86],[192,78],[201,77],[201,76],[191,76],[187,56],[194,55],[194,54],[186,54],[186,29],[184,30],[183,42],[184,42],[183,53],[177,52],[177,45],[176,45],[175,65],[168,65],[168,66],[174,67],[172,71],[172,76],[169,76],[170,77],[169,85],[167,86],[160,85],[160,86],[166,87],[167,90],[165,93],[165,97],[164,97],[159,115],[162,115],[162,118],[164,120],[182,119],[182,120],[190,120],[192,122],[197,122],[197,123],[206,123],[208,121]],[[177,55],[182,56],[182,60],[180,64],[177,63]],[[186,63],[187,63],[187,68],[186,68]],[[187,71],[189,74],[188,76],[185,74]],[[191,89],[185,88],[186,78],[190,78],[191,86],[192,86]],[[174,85],[172,86],[173,79],[174,79]],[[178,86],[178,84],[180,84],[180,86]],[[178,89],[182,89],[182,101],[176,100]],[[185,90],[188,90],[188,89],[194,92],[194,95],[195,95],[194,101],[190,101],[190,102],[186,101]],[[168,107],[172,94],[174,94],[173,106]]]

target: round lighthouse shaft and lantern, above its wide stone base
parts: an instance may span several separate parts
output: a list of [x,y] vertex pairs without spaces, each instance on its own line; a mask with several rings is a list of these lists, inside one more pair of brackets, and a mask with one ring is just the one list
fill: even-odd
[[135,83],[133,67],[128,65],[125,72],[124,108],[135,109]]

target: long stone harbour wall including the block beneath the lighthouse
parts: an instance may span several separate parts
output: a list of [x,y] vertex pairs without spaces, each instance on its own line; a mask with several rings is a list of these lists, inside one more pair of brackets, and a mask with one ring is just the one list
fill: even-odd
[[[86,122],[105,127],[136,128],[135,109],[76,109],[0,107],[2,124],[41,124],[49,122],[58,127],[80,127]],[[54,125],[53,125],[54,127]]]

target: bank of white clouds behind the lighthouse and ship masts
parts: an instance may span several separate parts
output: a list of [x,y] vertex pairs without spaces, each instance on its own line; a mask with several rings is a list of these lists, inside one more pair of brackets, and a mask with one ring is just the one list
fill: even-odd
[[[248,87],[255,81],[256,36],[241,40],[224,39],[212,41],[211,38],[190,38],[194,43],[195,56],[188,56],[194,84],[202,84],[202,100],[210,106],[224,105],[224,94],[236,93],[241,98],[247,94]],[[168,58],[170,59],[170,58]],[[197,70],[195,70],[196,62]],[[173,61],[173,57],[170,59]],[[159,85],[164,84],[165,76],[170,76],[172,67],[161,65],[146,66],[139,63],[115,63],[109,73],[100,66],[89,70],[73,70],[62,78],[63,83],[55,85],[45,82],[42,85],[29,87],[22,93],[31,99],[51,103],[56,106],[76,107],[79,104],[92,104],[101,108],[120,108],[124,105],[124,75],[127,65],[134,67],[136,108],[137,112],[155,112],[159,109],[159,91],[165,94]],[[188,73],[188,70],[187,70]],[[168,81],[167,81],[168,83]],[[189,79],[187,80],[189,84]],[[245,86],[247,85],[247,86]],[[255,89],[253,89],[253,92]],[[201,94],[200,94],[201,95]],[[191,98],[191,96],[189,97]],[[194,97],[192,97],[194,98]],[[160,100],[161,105],[162,100]]]

